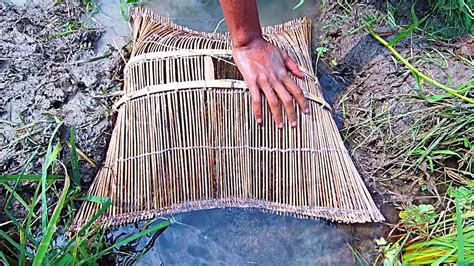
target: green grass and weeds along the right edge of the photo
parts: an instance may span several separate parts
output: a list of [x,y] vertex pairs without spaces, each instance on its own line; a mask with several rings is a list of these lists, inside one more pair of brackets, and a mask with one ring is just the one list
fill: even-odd
[[[401,206],[400,223],[395,225],[392,231],[398,235],[389,236],[398,240],[390,244],[383,239],[379,242],[384,253],[384,265],[474,263],[474,79],[454,88],[446,86],[422,73],[395,49],[398,42],[415,30],[428,32],[429,36],[453,34],[449,27],[436,32],[430,28],[431,23],[435,21],[431,17],[439,18],[437,12],[440,10],[459,12],[458,17],[453,17],[448,12],[446,16],[449,17],[444,19],[447,25],[463,23],[463,27],[458,25],[460,30],[455,31],[454,35],[472,30],[472,10],[464,1],[456,2],[462,4],[462,8],[454,2],[438,1],[432,11],[436,15],[427,16],[423,20],[417,19],[412,7],[412,24],[391,41],[386,41],[376,34],[372,28],[373,22],[366,20],[368,32],[412,74],[418,89],[414,98],[425,102],[424,107],[398,117],[413,116],[416,113],[417,120],[404,132],[386,142],[391,157],[397,158],[391,166],[392,169],[386,171],[392,170],[393,173],[395,170],[398,176],[422,175],[425,179],[432,180],[431,182],[439,182],[432,188],[433,193],[438,196],[435,206]],[[425,28],[420,29],[425,20]],[[423,82],[432,87],[425,88]],[[441,93],[436,89],[441,89]],[[371,125],[380,129],[397,119],[385,116],[387,113],[382,112],[377,115],[379,117],[370,119]],[[396,177],[397,175],[391,175],[392,180]],[[420,189],[427,189],[420,183]],[[443,196],[438,194],[438,189],[445,191]]]

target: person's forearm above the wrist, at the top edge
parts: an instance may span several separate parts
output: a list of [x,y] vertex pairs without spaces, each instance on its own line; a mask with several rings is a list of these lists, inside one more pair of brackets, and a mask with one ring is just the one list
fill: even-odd
[[262,38],[256,0],[220,0],[234,47]]

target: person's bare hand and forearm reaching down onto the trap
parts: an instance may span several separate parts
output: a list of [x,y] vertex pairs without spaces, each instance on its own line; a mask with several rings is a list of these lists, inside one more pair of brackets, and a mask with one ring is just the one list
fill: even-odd
[[265,95],[273,119],[283,128],[282,105],[292,127],[296,127],[294,101],[308,113],[308,103],[301,89],[290,78],[304,74],[287,53],[265,41],[262,36],[256,0],[220,0],[229,29],[234,61],[244,77],[252,98],[257,123],[262,123],[262,97]]

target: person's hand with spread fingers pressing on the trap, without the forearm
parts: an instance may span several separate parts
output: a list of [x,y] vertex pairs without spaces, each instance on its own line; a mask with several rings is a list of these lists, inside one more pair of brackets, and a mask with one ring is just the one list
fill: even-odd
[[296,127],[296,111],[293,99],[303,112],[308,113],[308,103],[303,91],[290,78],[289,72],[298,78],[304,74],[288,54],[263,38],[256,38],[245,46],[233,49],[234,61],[249,87],[252,109],[257,123],[262,123],[263,91],[273,119],[279,128],[283,128],[282,104],[292,127]]

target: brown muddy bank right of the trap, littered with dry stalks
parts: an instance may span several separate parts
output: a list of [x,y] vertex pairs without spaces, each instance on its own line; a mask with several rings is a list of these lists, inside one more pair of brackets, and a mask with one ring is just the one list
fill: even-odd
[[[389,107],[389,114],[395,117],[428,106],[426,102],[414,99],[418,93],[416,81],[404,65],[396,63],[389,51],[365,30],[353,32],[363,24],[365,14],[382,12],[380,10],[383,8],[377,5],[354,4],[347,20],[335,22],[337,14],[347,11],[333,4],[321,16],[321,24],[328,26],[328,30],[326,36],[320,38],[326,39],[329,47],[325,62],[337,62],[337,65],[327,67],[326,71],[342,83],[335,104],[340,114],[344,112],[342,132],[352,148],[357,165],[368,185],[383,196],[384,202],[402,202],[413,200],[412,196],[417,194],[414,190],[419,188],[407,186],[415,178],[409,176],[381,182],[390,179],[390,176],[382,174],[396,174],[386,171],[393,163],[391,160],[395,159],[390,158],[392,151],[386,148],[387,135],[396,136],[406,130],[413,124],[416,115],[394,119],[390,128],[382,128],[372,134],[368,132],[370,128],[354,128],[354,125]],[[404,57],[413,59],[417,68],[441,83],[459,85],[473,77],[472,68],[454,56],[458,49],[468,46],[468,42],[459,39],[451,44],[436,45],[407,38],[397,44],[396,49]],[[435,61],[429,57],[433,51],[450,51],[452,55],[444,52],[443,60]],[[472,51],[464,50],[464,53]],[[425,88],[436,91],[427,85]]]

